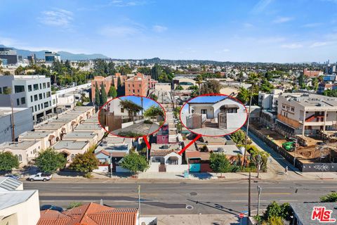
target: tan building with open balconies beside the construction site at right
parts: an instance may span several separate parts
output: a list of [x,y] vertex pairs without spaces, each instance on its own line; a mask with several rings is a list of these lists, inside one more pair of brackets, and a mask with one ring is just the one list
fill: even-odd
[[277,130],[282,134],[314,135],[337,129],[337,98],[308,93],[279,96]]

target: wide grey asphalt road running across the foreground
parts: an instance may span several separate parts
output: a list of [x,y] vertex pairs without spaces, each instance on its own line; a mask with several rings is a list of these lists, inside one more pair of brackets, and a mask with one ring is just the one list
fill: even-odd
[[[248,181],[83,181],[29,182],[25,189],[38,189],[41,205],[67,207],[72,202],[103,200],[112,207],[138,207],[140,185],[142,214],[238,214],[247,210]],[[317,202],[319,196],[336,191],[336,181],[251,182],[252,214],[257,210],[257,188],[263,188],[260,209],[272,200],[279,203]]]

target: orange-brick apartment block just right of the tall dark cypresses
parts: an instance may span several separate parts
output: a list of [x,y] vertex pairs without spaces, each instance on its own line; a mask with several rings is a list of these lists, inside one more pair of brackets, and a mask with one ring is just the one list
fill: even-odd
[[151,77],[137,73],[134,77],[125,81],[125,95],[147,96],[148,91],[152,88]]

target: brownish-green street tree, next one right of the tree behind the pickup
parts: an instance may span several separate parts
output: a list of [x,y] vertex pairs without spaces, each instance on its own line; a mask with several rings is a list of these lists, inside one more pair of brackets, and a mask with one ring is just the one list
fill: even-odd
[[73,169],[77,172],[84,172],[86,174],[93,172],[93,169],[98,169],[100,161],[91,151],[86,151],[83,154],[76,154],[70,169]]

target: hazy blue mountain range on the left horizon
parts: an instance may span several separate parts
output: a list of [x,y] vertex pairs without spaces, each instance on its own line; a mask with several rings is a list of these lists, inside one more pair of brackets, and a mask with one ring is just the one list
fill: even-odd
[[[6,47],[3,44],[0,44],[0,47]],[[15,48],[13,48],[15,49]],[[18,52],[18,56],[23,56],[24,58],[27,58],[27,56],[31,56],[32,54],[35,54],[37,58],[44,58],[44,52],[48,50],[42,50],[42,51],[29,51],[25,49],[15,49]],[[95,58],[109,58],[107,56],[104,56],[103,54],[74,54],[67,51],[58,51],[58,54],[60,54],[62,60],[92,60]]]

